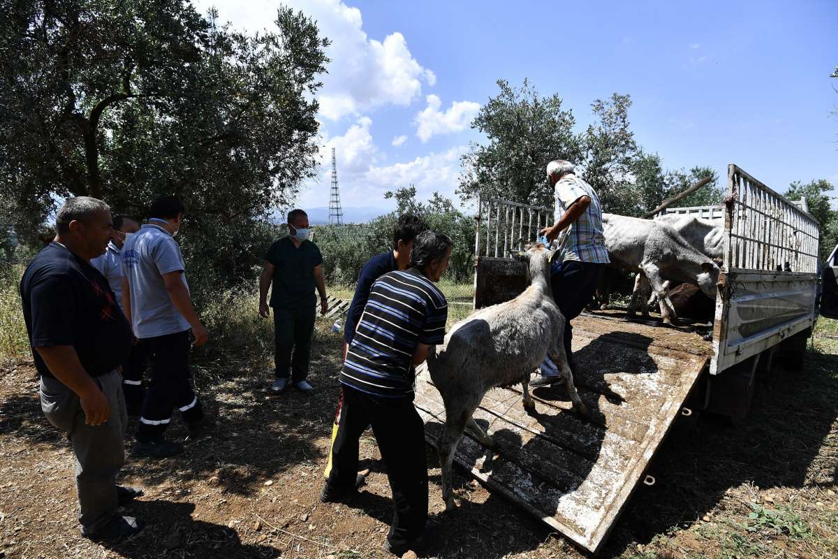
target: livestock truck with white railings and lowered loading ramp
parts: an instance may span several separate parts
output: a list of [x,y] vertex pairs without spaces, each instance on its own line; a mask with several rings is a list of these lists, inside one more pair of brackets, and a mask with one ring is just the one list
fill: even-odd
[[[725,251],[711,325],[665,326],[620,311],[583,313],[573,321],[574,380],[591,417],[577,417],[563,387],[533,391],[535,413],[520,386],[490,391],[474,413],[498,448],[468,433],[456,463],[551,529],[596,553],[647,473],[679,416],[711,411],[741,422],[754,379],[780,360],[802,368],[819,313],[819,224],[795,204],[731,164],[724,204],[668,208],[723,218]],[[478,201],[473,307],[515,298],[525,270],[511,257],[535,241],[553,210],[499,199]],[[416,380],[416,408],[427,442],[442,432],[445,409],[427,373]]]

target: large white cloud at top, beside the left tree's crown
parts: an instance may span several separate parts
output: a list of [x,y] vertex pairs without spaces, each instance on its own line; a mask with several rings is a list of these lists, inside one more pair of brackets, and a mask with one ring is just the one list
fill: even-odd
[[[394,32],[384,40],[370,39],[358,8],[339,0],[287,0],[287,5],[317,21],[332,44],[327,49],[328,74],[318,94],[320,114],[329,120],[359,115],[377,106],[409,106],[422,93],[422,83],[434,85],[436,75],[413,58],[407,41]],[[201,12],[215,5],[221,21],[253,32],[274,28],[277,3],[268,0],[197,0]]]

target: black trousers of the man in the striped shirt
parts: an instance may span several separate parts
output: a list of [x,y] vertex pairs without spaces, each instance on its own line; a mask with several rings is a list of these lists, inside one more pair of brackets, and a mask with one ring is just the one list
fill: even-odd
[[354,488],[359,439],[372,426],[393,492],[393,523],[387,539],[404,546],[422,535],[427,521],[425,424],[408,398],[378,398],[341,386],[337,432],[325,475],[334,489]]

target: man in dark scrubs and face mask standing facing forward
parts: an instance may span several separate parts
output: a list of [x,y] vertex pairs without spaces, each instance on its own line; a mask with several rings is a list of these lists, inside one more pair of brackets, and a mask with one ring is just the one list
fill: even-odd
[[271,385],[274,394],[282,394],[289,379],[299,391],[313,390],[306,376],[314,334],[314,287],[320,293],[320,313],[325,314],[328,310],[322,264],[320,249],[308,241],[308,215],[303,210],[289,211],[288,236],[267,250],[259,282],[259,315],[262,318],[271,314],[267,290],[273,283],[270,308],[273,308],[277,375]]

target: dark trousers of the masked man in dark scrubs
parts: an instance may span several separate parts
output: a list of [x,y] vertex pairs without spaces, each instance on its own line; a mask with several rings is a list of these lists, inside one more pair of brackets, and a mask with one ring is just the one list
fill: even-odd
[[277,379],[305,380],[312,354],[314,305],[273,309],[274,365]]

